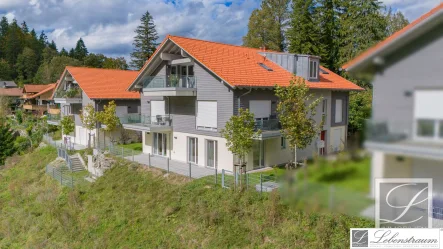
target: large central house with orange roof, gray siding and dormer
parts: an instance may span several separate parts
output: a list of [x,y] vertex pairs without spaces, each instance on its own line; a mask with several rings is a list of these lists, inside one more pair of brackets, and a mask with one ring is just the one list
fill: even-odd
[[141,92],[141,117],[124,127],[143,132],[143,152],[177,162],[232,170],[234,155],[220,131],[239,108],[248,108],[262,130],[247,158],[247,170],[284,164],[293,151],[280,132],[274,86],[294,74],[324,101],[318,140],[298,158],[342,150],[346,144],[348,93],[360,87],[319,66],[320,58],[167,36],[128,90]]

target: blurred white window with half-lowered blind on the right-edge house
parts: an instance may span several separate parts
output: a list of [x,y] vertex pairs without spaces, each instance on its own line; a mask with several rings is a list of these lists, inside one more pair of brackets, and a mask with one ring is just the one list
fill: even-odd
[[417,90],[414,97],[416,137],[443,140],[443,90]]

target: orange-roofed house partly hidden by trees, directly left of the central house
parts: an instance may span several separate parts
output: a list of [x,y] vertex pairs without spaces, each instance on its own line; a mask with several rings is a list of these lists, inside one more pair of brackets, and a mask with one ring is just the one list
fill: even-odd
[[[86,146],[91,133],[92,146],[119,142],[122,129],[104,134],[97,125],[96,129],[88,131],[83,127],[80,113],[88,104],[92,104],[96,111],[102,111],[104,105],[112,100],[117,105],[117,116],[122,119],[128,114],[140,113],[140,94],[126,91],[137,74],[128,70],[66,67],[53,98],[56,104],[60,104],[60,118],[71,116],[75,121],[74,134],[67,139]],[[130,135],[136,137],[137,134]]]

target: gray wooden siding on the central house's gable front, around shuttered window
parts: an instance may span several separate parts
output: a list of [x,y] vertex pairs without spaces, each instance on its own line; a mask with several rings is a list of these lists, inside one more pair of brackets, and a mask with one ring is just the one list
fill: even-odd
[[[194,73],[197,78],[197,97],[169,98],[173,129],[176,132],[220,136],[221,129],[233,115],[233,91],[197,63],[194,64]],[[196,101],[198,100],[217,101],[217,132],[196,129]]]

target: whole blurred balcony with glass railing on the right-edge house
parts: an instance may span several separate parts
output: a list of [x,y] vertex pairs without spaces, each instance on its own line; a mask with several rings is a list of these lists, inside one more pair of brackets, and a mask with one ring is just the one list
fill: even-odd
[[443,159],[443,143],[417,139],[406,132],[397,132],[388,122],[366,122],[365,148],[387,154]]

